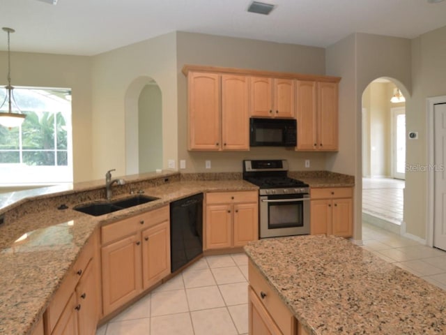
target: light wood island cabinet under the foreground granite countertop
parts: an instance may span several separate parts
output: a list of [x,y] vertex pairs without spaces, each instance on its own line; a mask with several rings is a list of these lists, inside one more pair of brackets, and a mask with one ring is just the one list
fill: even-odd
[[308,334],[251,261],[248,279],[249,335]]

